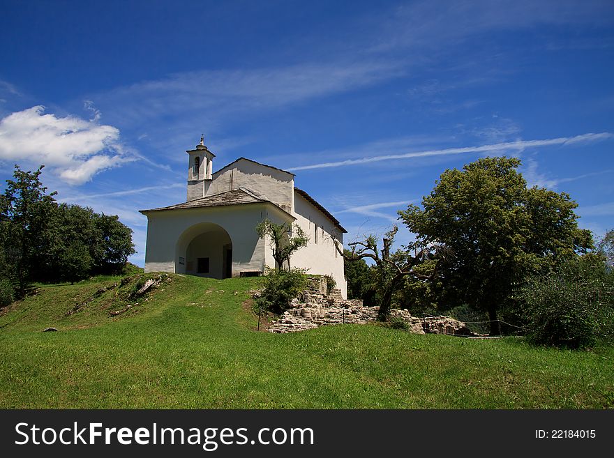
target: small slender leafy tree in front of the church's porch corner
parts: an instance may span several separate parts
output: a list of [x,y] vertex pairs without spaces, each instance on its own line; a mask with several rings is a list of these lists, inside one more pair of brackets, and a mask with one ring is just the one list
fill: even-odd
[[292,254],[301,247],[306,247],[309,241],[305,231],[296,224],[293,227],[290,222],[277,224],[267,219],[256,226],[256,232],[261,238],[269,237],[278,270],[283,270],[284,263],[290,268]]

